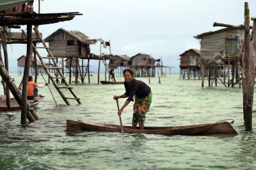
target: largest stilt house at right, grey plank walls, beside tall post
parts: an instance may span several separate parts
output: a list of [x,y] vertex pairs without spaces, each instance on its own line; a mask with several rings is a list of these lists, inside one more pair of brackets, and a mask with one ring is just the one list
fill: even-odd
[[213,80],[215,85],[220,80],[226,87],[230,85],[233,87],[236,83],[241,84],[243,29],[220,29],[199,34],[195,38],[200,39],[201,45],[202,87],[205,76],[208,76],[209,86],[212,86]]

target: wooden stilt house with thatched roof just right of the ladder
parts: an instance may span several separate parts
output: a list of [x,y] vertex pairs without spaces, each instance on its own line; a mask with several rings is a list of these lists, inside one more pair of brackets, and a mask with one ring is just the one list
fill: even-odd
[[[47,36],[44,41],[49,43],[52,55],[56,57],[57,60],[61,58],[63,71],[64,68],[68,69],[70,73],[70,83],[72,73],[75,73],[75,82],[77,82],[78,76],[83,75],[83,73],[79,74],[79,71],[83,72],[84,67],[86,67],[83,65],[83,60],[90,59],[90,44],[97,42],[95,39],[89,39],[88,36],[80,31],[66,31],[62,28]],[[66,63],[66,67],[64,66],[64,58],[72,58],[72,60],[68,60],[69,63]],[[82,60],[82,66],[79,64],[79,59]],[[70,64],[70,61],[72,61],[72,64]],[[81,80],[84,80],[84,78],[81,77]]]

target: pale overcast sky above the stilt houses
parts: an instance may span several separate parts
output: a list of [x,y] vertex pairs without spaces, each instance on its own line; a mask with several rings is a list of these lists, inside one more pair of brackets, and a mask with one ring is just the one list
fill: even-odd
[[[164,66],[175,67],[172,72],[179,73],[179,55],[190,48],[200,50],[200,43],[193,36],[223,29],[212,27],[214,22],[243,24],[244,2],[249,4],[250,16],[256,17],[255,0],[44,0],[40,1],[40,13],[77,11],[83,15],[71,21],[40,25],[39,31],[43,38],[61,27],[81,31],[91,39],[110,40],[113,54],[132,57],[147,53],[155,59],[162,58]],[[34,10],[38,12],[37,0]],[[9,45],[8,52],[10,70],[17,71],[17,59],[26,55],[26,45]],[[99,43],[91,45],[91,52],[99,54]],[[102,52],[109,53],[109,48]],[[97,62],[94,68],[97,69]]]

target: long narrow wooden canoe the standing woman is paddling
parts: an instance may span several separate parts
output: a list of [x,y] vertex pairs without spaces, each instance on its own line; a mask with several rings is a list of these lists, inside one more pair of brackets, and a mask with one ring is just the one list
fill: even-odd
[[[237,134],[230,123],[216,122],[212,124],[199,124],[174,127],[144,127],[144,130],[132,129],[131,126],[123,126],[124,133],[130,134],[162,134],[166,136],[186,135],[199,136],[211,134]],[[67,131],[106,131],[122,132],[120,125],[82,122],[81,120],[67,120]]]

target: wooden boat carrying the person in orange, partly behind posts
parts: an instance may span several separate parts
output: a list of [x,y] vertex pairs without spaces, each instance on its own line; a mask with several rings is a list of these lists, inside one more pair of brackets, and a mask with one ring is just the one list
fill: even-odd
[[[34,100],[28,100],[28,103],[32,108],[35,108],[41,101],[44,100],[44,96],[36,96]],[[20,106],[17,101],[12,98],[10,99],[10,110],[8,110],[6,106],[6,96],[0,96],[0,111],[18,111],[20,110]]]

